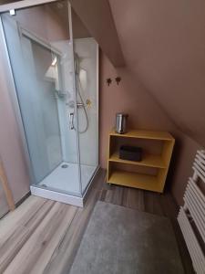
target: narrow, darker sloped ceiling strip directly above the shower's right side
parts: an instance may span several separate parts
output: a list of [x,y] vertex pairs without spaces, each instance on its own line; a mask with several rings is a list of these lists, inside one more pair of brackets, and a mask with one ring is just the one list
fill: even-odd
[[70,0],[70,4],[113,65],[124,66],[125,61],[108,0]]

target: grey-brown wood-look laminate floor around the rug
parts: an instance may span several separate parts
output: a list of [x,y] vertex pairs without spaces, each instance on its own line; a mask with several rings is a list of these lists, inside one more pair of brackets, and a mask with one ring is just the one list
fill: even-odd
[[194,273],[176,221],[178,208],[171,195],[109,186],[105,176],[103,170],[97,174],[84,208],[31,195],[0,220],[0,273],[69,273],[97,200],[168,216],[185,273]]

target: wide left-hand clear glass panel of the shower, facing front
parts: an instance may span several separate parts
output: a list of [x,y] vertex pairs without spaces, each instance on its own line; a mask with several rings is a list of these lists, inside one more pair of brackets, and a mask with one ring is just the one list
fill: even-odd
[[68,2],[37,5],[2,18],[33,183],[81,195]]

